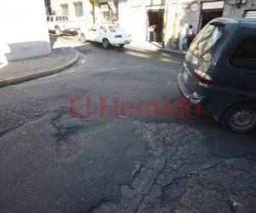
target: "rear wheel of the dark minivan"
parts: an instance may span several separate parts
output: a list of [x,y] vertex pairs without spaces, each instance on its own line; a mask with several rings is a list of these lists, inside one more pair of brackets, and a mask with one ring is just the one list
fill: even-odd
[[245,134],[256,127],[256,106],[253,104],[239,104],[230,107],[221,119],[224,128],[235,133]]

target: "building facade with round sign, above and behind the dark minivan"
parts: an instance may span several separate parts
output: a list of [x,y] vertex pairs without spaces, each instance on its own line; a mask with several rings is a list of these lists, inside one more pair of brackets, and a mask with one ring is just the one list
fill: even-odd
[[256,0],[169,0],[168,11],[166,45],[176,49],[185,24],[194,26],[197,33],[214,18],[256,18]]

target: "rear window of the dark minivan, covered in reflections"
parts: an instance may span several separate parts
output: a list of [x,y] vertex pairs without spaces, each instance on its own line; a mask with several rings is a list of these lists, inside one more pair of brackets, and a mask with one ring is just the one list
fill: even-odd
[[219,44],[223,42],[225,34],[224,26],[209,24],[198,34],[189,49],[193,55],[203,60],[212,60],[212,55]]

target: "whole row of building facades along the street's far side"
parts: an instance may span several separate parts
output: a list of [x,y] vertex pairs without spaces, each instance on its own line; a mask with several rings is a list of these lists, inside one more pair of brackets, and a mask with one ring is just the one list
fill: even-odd
[[184,24],[192,25],[197,33],[217,17],[256,17],[256,0],[51,0],[51,9],[68,14],[81,27],[119,23],[135,41],[176,48]]

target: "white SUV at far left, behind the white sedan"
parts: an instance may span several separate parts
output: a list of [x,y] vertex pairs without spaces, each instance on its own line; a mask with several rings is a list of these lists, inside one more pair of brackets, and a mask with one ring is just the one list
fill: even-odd
[[67,15],[48,15],[47,25],[49,32],[61,36],[64,33],[75,35],[79,32],[79,23],[68,19]]

